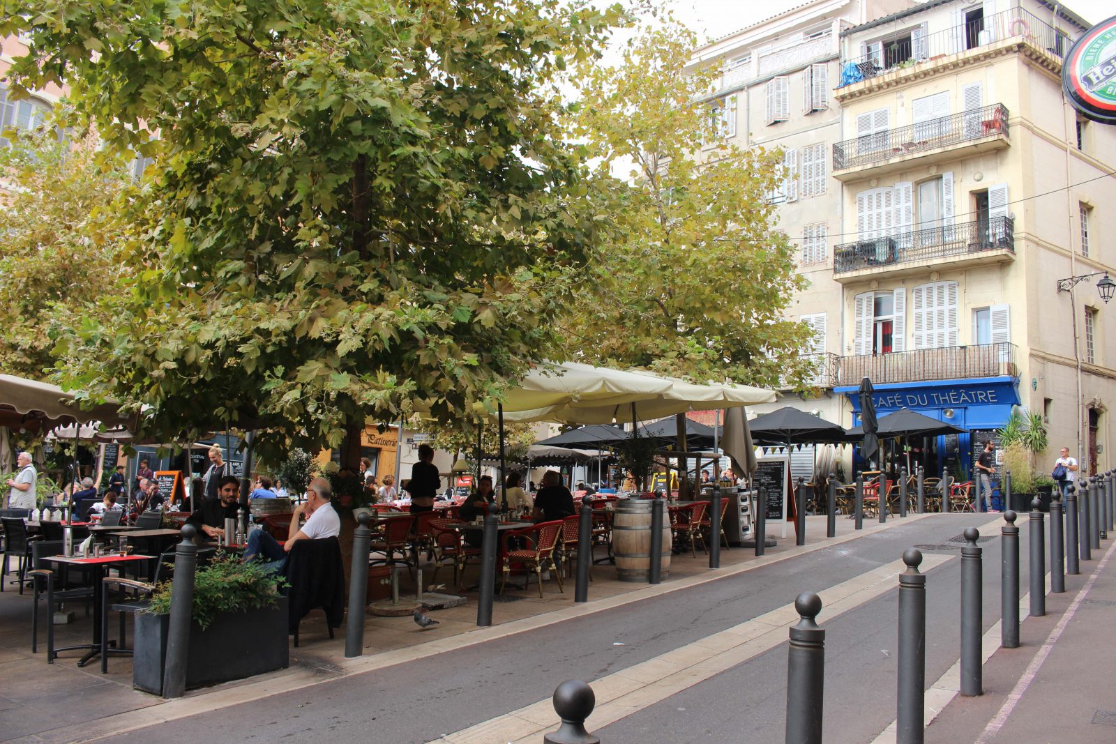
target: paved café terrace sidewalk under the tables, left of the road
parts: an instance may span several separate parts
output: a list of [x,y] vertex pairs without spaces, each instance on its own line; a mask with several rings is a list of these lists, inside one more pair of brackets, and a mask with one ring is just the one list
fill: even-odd
[[[960,516],[960,515],[959,515]],[[721,550],[721,569],[711,571],[709,559],[698,552],[674,555],[671,577],[657,586],[627,583],[616,579],[615,568],[598,564],[593,568],[594,581],[586,603],[574,602],[574,580],[564,580],[565,592],[558,591],[554,579],[543,582],[543,597],[532,582],[528,590],[509,587],[503,598],[498,597],[493,610],[493,626],[477,627],[475,593],[466,595],[469,602],[462,607],[431,611],[440,625],[422,631],[411,617],[366,617],[365,656],[344,658],[344,627],[330,640],[321,612],[312,612],[300,629],[300,647],[291,649],[290,668],[251,679],[228,683],[193,690],[180,700],[162,698],[132,689],[132,663],[127,657],[112,657],[109,674],[100,675],[99,661],[85,669],[76,666],[78,654],[68,653],[54,665],[46,663],[46,632],[40,629],[37,655],[30,653],[29,593],[20,596],[15,586],[7,586],[0,595],[0,678],[9,682],[0,690],[0,741],[73,742],[89,741],[98,736],[174,719],[219,707],[258,699],[277,692],[302,688],[327,679],[383,668],[394,664],[431,656],[451,648],[483,642],[493,638],[523,632],[546,625],[589,615],[613,607],[639,601],[725,576],[783,561],[805,552],[878,533],[901,524],[922,519],[889,519],[886,525],[865,520],[865,529],[856,532],[853,521],[837,520],[837,537],[825,538],[824,516],[807,518],[807,544],[795,545],[793,525],[788,525],[787,538],[779,539],[776,548],[768,548],[763,558],[757,559],[751,549]],[[779,525],[769,524],[769,534],[779,538]],[[598,557],[604,551],[598,552]],[[474,568],[466,583],[474,580]],[[424,582],[432,583],[432,568],[424,570]],[[8,578],[11,578],[10,576]],[[452,571],[439,572],[437,583],[452,583]],[[499,588],[499,587],[498,587]],[[442,589],[440,591],[446,591]],[[411,587],[413,597],[413,587]],[[56,626],[59,646],[89,642],[92,620],[75,607],[77,620],[68,626]],[[115,626],[115,624],[114,624]],[[115,628],[114,628],[115,630]],[[129,629],[131,639],[131,629]],[[124,714],[124,715],[122,715]]]

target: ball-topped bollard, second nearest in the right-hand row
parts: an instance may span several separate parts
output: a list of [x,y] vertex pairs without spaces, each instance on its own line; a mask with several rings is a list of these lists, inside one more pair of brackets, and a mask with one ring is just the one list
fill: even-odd
[[804,591],[795,600],[799,620],[790,629],[787,654],[787,744],[821,744],[826,631],[815,619],[821,598]]

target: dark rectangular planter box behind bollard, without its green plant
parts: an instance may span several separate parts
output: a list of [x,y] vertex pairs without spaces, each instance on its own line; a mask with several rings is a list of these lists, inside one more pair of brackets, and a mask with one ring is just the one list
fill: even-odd
[[[136,689],[163,694],[170,621],[169,615],[136,615],[132,666]],[[196,622],[190,626],[186,689],[285,669],[289,664],[286,597],[275,607],[221,615],[205,630]]]

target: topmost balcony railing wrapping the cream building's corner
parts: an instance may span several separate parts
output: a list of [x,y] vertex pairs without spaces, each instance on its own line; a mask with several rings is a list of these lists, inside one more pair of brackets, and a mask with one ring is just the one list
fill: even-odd
[[[867,55],[841,59],[841,79],[837,87],[1009,38],[1022,38],[1038,49],[1045,49],[1059,61],[1072,42],[1038,16],[1022,8],[1011,8],[944,31],[923,35],[916,28],[907,36],[869,45]],[[872,46],[875,48],[872,49]]]

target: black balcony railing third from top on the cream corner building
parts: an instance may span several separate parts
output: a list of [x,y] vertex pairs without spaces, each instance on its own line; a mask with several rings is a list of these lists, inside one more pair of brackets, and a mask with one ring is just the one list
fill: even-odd
[[834,273],[970,257],[997,249],[1016,251],[1014,221],[1011,218],[992,218],[841,243],[834,248]]

